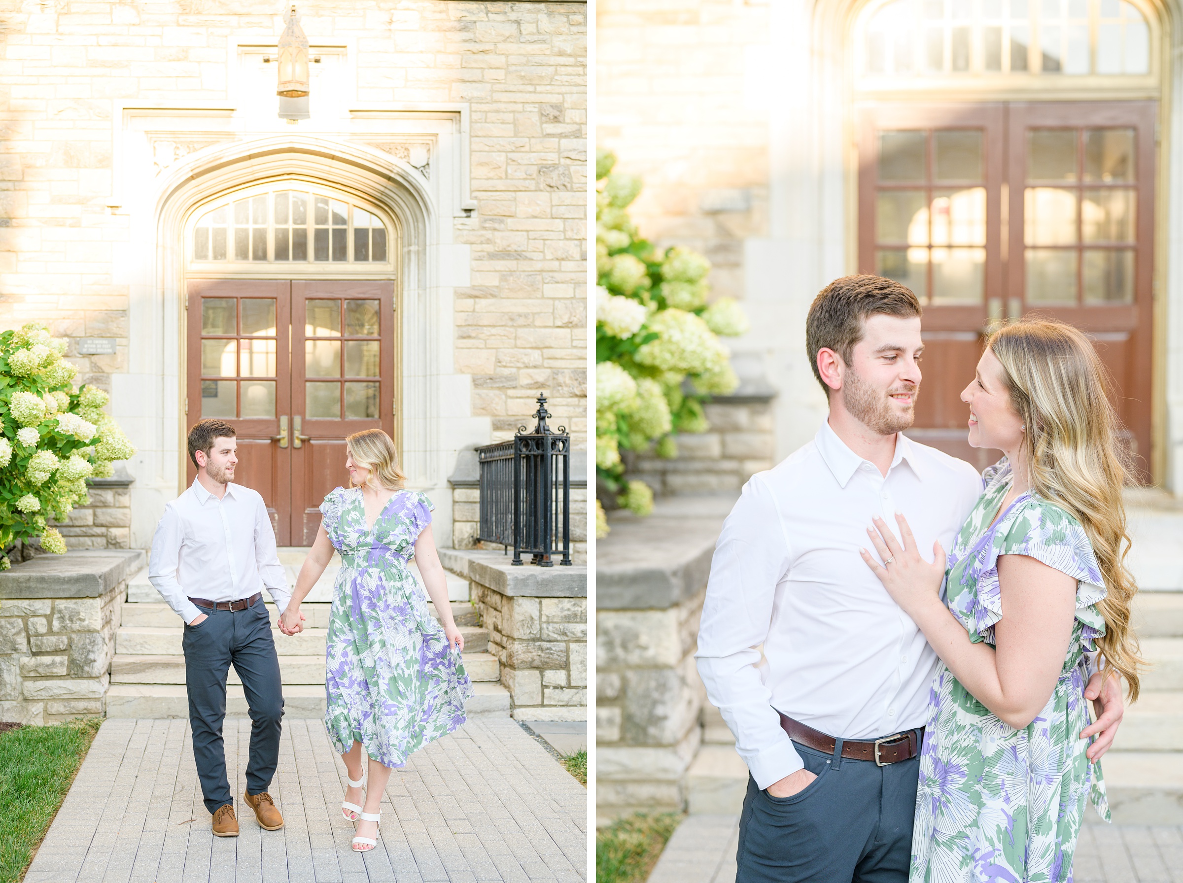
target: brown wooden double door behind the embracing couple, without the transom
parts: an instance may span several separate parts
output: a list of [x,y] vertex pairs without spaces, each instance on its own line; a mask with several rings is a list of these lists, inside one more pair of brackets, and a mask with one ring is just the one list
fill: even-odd
[[961,390],[996,323],[1081,329],[1150,481],[1153,102],[875,104],[860,110],[859,270],[924,304],[918,441],[976,466]]

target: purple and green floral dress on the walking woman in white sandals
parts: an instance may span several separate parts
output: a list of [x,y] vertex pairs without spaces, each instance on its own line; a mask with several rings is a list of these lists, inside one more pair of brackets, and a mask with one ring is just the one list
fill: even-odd
[[358,741],[383,766],[401,767],[465,721],[472,682],[407,566],[432,508],[426,494],[396,491],[371,530],[361,488],[338,487],[321,504],[341,552],[324,680],[324,726],[340,754]]

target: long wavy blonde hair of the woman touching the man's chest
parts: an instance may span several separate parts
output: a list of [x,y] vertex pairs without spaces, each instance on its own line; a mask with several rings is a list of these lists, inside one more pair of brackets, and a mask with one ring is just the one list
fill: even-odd
[[1010,401],[1027,427],[1023,446],[1032,489],[1071,512],[1092,543],[1108,589],[1097,605],[1105,617],[1097,647],[1105,668],[1125,679],[1133,701],[1145,663],[1130,628],[1138,586],[1125,566],[1130,537],[1121,488],[1129,470],[1105,369],[1088,338],[1061,322],[1004,325],[985,345],[1002,363]]

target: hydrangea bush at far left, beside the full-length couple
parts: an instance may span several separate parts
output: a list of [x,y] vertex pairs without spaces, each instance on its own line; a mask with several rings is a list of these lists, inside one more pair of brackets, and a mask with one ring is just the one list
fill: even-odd
[[75,389],[66,342],[43,325],[0,335],[0,570],[18,541],[40,537],[62,554],[66,544],[49,519],[64,521],[89,502],[86,479],[108,478],[135,448],[103,411],[106,394]]

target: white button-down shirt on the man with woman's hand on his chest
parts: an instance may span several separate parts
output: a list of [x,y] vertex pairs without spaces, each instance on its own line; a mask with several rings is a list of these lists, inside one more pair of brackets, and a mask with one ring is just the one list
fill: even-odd
[[901,512],[924,558],[933,540],[948,551],[982,479],[963,460],[896,439],[885,478],[823,423],[744,485],[723,525],[696,657],[761,788],[804,766],[777,712],[843,739],[924,726],[937,655],[859,550],[874,554],[874,515],[898,534]]

